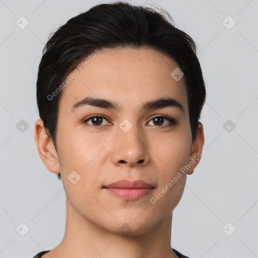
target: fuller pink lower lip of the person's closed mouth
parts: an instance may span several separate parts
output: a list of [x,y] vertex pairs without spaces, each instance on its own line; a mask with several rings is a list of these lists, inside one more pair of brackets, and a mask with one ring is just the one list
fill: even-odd
[[120,197],[125,200],[138,200],[149,193],[152,192],[153,189],[149,188],[135,188],[135,189],[125,189],[125,188],[105,188],[113,195]]

